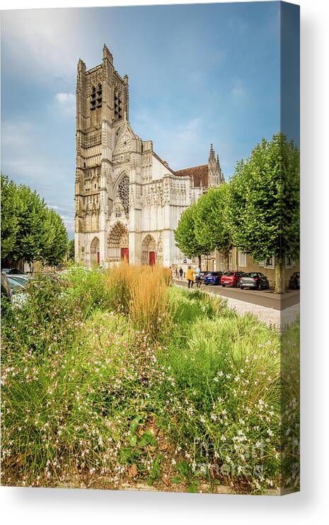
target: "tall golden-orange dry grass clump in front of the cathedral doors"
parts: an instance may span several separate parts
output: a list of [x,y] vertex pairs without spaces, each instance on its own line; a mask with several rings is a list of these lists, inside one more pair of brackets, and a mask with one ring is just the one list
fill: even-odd
[[156,339],[168,330],[173,317],[168,301],[171,270],[159,265],[132,265],[122,261],[108,272],[114,306],[128,315],[138,330]]

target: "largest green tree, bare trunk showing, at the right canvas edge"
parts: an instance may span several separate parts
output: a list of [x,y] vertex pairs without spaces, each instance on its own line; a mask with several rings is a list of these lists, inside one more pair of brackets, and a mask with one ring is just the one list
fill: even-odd
[[229,183],[233,244],[256,260],[275,257],[275,292],[284,292],[286,256],[299,258],[299,150],[277,133],[240,161]]

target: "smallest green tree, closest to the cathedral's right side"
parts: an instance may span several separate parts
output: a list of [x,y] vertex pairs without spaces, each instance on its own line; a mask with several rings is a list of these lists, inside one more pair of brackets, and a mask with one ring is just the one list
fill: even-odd
[[197,204],[185,209],[180,216],[178,226],[175,229],[176,246],[182,250],[188,258],[197,257],[201,265],[201,255],[208,253],[207,245],[200,243],[195,236],[195,216]]

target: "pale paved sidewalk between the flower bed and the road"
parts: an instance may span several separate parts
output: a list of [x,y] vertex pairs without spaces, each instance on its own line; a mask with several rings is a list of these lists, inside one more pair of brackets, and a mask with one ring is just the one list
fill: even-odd
[[[178,287],[187,288],[187,285],[184,282],[173,281],[173,284]],[[193,289],[196,290],[196,287]],[[281,310],[275,307],[271,308],[250,302],[248,301],[248,299],[250,299],[248,294],[246,294],[248,299],[246,299],[246,301],[241,301],[240,299],[224,296],[224,294],[220,294],[219,292],[213,292],[212,290],[209,290],[208,287],[202,287],[201,291],[214,297],[223,296],[227,301],[227,306],[236,310],[241,316],[243,316],[244,313],[253,313],[255,316],[258,316],[259,320],[263,323],[266,323],[267,325],[275,325],[277,328],[284,328],[284,326],[295,321],[296,317],[299,315],[299,303]],[[253,297],[255,297],[255,293],[264,294],[264,292],[250,291],[250,294],[253,294]]]

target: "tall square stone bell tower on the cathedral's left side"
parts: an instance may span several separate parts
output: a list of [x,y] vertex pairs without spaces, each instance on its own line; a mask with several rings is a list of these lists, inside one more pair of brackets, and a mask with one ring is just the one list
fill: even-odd
[[128,77],[115,71],[104,45],[98,66],[86,70],[79,59],[76,80],[75,257],[88,265],[106,252],[115,134],[128,118]]

